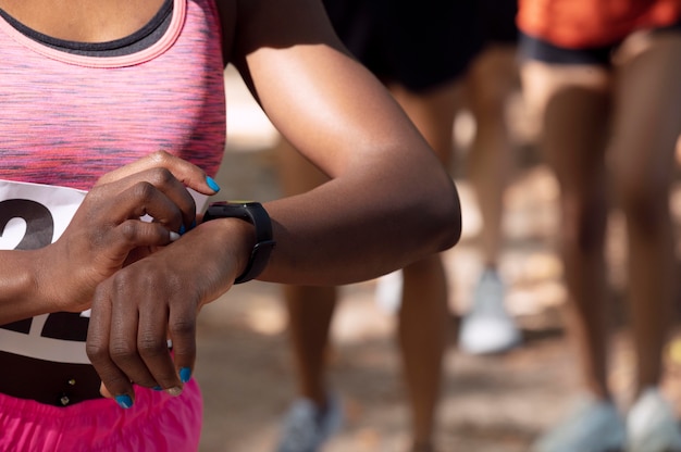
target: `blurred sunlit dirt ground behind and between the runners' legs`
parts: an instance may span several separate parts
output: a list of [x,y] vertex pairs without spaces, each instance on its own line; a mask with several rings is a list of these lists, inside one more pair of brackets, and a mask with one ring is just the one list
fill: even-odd
[[[219,177],[221,197],[276,198],[276,161],[270,151],[274,134],[234,74],[228,71],[226,79],[231,127]],[[508,243],[500,262],[508,306],[524,340],[522,347],[503,355],[470,356],[456,347],[456,317],[469,302],[481,262],[479,213],[467,180],[455,174],[465,223],[461,242],[444,253],[455,315],[437,434],[442,452],[524,452],[579,394],[575,360],[560,316],[561,267],[553,250],[553,231],[559,226],[557,189],[541,163],[525,160],[506,194]],[[610,277],[615,299],[621,301],[626,253],[617,215],[610,233]],[[342,399],[345,424],[326,452],[403,452],[409,440],[395,315],[376,303],[375,287],[372,280],[342,290],[329,378]],[[619,312],[623,319],[624,310]],[[237,286],[207,306],[199,318],[196,378],[206,399],[200,450],[273,451],[282,415],[295,397],[280,287],[259,281]],[[615,334],[614,350],[610,379],[618,402],[626,406],[633,357],[624,327]],[[681,341],[674,340],[667,353],[665,390],[679,406],[680,355]]]

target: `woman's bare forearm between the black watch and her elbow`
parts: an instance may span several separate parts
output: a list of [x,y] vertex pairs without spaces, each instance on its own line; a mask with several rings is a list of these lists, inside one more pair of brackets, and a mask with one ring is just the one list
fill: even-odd
[[[437,175],[438,173],[434,173]],[[268,203],[277,246],[260,279],[340,285],[366,280],[454,246],[460,236],[457,191],[439,177],[387,177],[371,190],[361,174]],[[403,189],[400,189],[400,186]],[[404,190],[404,187],[418,189]]]

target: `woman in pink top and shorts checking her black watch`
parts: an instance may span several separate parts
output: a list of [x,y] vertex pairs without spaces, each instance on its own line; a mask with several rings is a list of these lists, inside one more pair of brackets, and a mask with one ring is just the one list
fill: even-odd
[[[2,451],[197,450],[202,305],[458,240],[451,178],[321,3],[0,0],[0,46]],[[327,184],[197,213],[228,63]]]

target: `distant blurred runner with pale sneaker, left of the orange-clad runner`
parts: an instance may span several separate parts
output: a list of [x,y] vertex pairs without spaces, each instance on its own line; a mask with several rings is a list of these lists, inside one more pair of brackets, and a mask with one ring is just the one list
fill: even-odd
[[459,348],[468,353],[499,353],[518,346],[520,331],[506,309],[506,285],[498,261],[504,243],[504,192],[513,165],[506,118],[510,96],[519,87],[517,0],[478,1],[484,50],[466,79],[466,105],[475,120],[470,151],[472,183],[482,215],[483,271],[459,328]]

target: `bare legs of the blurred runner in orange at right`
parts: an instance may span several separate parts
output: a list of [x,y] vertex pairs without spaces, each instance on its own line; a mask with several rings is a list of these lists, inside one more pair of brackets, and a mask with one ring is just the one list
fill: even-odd
[[663,378],[678,293],[669,200],[681,134],[680,51],[678,32],[634,34],[611,70],[537,61],[522,66],[529,105],[543,121],[542,149],[560,185],[569,331],[583,387],[604,400],[611,398],[605,259],[611,208],[627,222],[636,394]]

